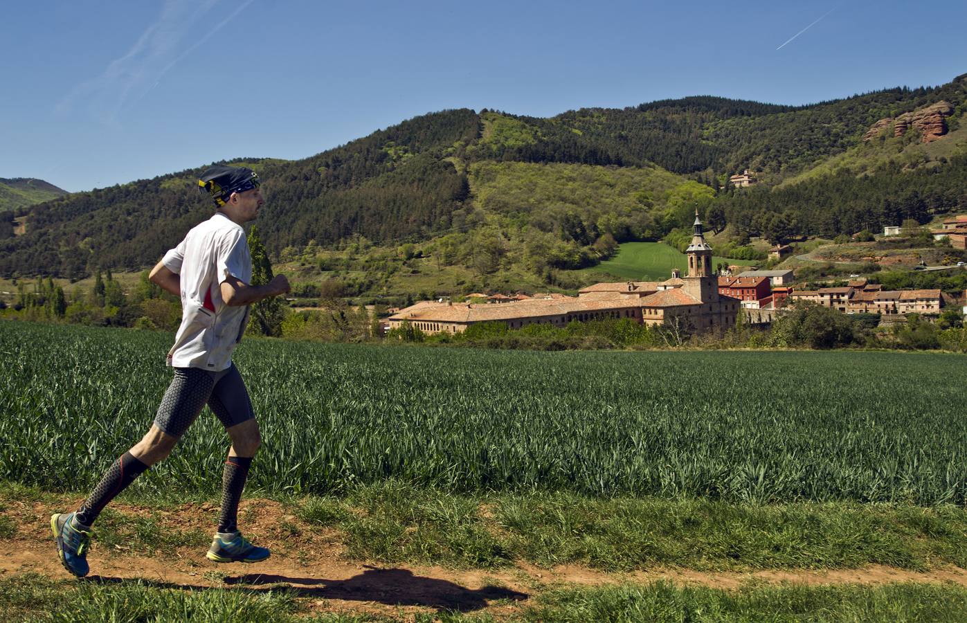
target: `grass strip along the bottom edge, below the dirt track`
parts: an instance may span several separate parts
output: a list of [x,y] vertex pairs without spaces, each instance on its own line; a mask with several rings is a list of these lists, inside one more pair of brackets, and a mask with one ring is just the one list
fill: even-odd
[[[398,615],[316,613],[298,590],[252,591],[144,580],[0,578],[5,621],[492,621],[487,612],[439,609]],[[351,609],[348,607],[346,609]],[[538,593],[511,615],[525,621],[963,621],[967,589],[952,584],[880,586],[756,585],[738,590],[668,581],[605,587],[558,587]],[[506,611],[501,619],[506,616]]]

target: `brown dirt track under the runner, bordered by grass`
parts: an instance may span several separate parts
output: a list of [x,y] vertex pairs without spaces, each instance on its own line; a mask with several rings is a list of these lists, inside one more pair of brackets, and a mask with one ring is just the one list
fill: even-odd
[[[73,508],[79,500],[68,508]],[[137,507],[113,507],[134,514]],[[49,516],[58,509],[49,504],[14,502],[2,513],[17,523],[16,533],[4,539],[0,578],[37,573],[49,578],[71,578],[61,566],[50,535]],[[171,530],[209,532],[218,509],[213,505],[185,504],[162,511],[161,526]],[[278,502],[243,501],[240,518],[248,536],[273,549],[268,560],[252,565],[218,564],[205,559],[205,546],[180,548],[170,554],[111,549],[97,540],[88,556],[91,575],[85,581],[141,580],[162,587],[212,590],[245,587],[268,590],[285,584],[307,598],[313,611],[373,613],[406,616],[416,612],[455,609],[484,611],[497,618],[511,616],[528,600],[553,586],[609,583],[646,583],[667,579],[733,589],[749,581],[770,583],[860,583],[898,581],[954,582],[967,586],[967,570],[947,567],[918,573],[882,566],[831,571],[697,572],[654,569],[630,573],[604,573],[568,565],[542,569],[525,562],[495,570],[448,569],[433,566],[379,563],[347,559],[335,531],[318,530],[286,514]],[[290,527],[299,524],[298,536]]]

